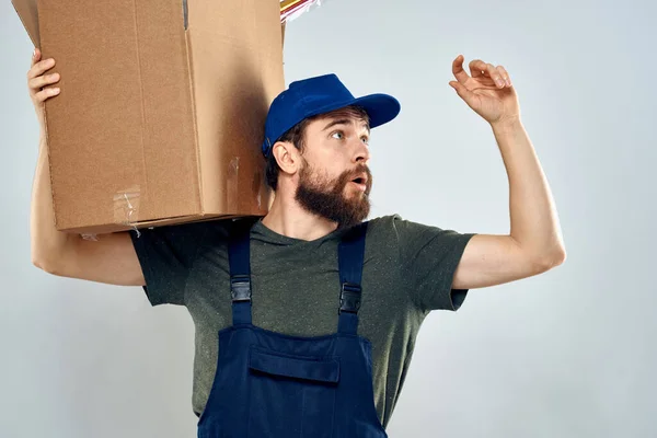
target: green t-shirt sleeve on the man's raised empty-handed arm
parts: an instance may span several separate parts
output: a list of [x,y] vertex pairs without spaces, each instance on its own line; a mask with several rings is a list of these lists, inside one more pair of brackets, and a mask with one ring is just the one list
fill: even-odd
[[402,275],[423,311],[458,310],[468,289],[452,289],[454,273],[474,233],[459,233],[395,217]]

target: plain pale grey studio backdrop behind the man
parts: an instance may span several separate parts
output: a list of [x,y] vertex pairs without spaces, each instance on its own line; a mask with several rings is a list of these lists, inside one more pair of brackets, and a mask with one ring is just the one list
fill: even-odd
[[[510,72],[558,207],[563,266],[427,319],[391,437],[657,436],[657,7],[620,4],[328,0],[290,24],[288,81],[403,104],[372,139],[373,216],[508,231],[491,129],[448,85],[459,53]],[[32,45],[0,16],[0,436],[192,437],[186,311],[31,264]]]

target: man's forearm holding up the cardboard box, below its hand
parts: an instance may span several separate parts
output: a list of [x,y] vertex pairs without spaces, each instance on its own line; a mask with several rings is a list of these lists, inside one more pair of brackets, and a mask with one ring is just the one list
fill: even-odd
[[42,131],[38,146],[38,160],[32,187],[30,217],[32,262],[42,269],[50,269],[54,261],[60,258],[69,242],[76,237],[57,231],[50,189],[50,169],[45,135]]

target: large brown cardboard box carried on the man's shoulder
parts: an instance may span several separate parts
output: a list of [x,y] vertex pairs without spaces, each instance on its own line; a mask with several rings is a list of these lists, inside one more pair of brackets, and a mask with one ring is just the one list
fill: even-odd
[[61,94],[46,102],[56,227],[265,215],[284,90],[279,0],[12,0]]

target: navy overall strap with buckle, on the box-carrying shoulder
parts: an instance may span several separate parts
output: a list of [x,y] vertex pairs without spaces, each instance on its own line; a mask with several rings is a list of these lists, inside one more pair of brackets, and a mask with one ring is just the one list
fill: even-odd
[[233,221],[228,239],[233,325],[251,324],[251,224]]

